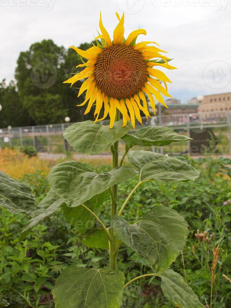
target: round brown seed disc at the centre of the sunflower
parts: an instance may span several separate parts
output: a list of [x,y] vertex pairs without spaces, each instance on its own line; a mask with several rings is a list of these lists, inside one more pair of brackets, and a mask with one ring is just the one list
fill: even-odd
[[132,46],[113,45],[104,49],[95,67],[96,85],[117,99],[133,96],[147,79],[146,62]]

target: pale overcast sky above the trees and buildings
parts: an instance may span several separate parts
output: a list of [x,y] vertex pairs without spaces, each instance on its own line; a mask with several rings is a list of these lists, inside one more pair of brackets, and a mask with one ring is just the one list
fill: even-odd
[[[115,12],[125,13],[125,37],[156,41],[174,58],[169,92],[186,102],[199,94],[231,92],[231,3],[228,0],[0,0],[0,80],[14,78],[20,51],[42,39],[78,46],[97,35],[99,12],[113,35]],[[137,41],[138,41],[137,40]]]

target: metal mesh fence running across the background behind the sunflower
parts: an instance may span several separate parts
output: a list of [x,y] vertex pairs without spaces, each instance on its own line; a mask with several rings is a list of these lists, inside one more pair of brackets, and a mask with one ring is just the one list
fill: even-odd
[[[219,153],[231,154],[231,112],[217,111],[193,114],[158,115],[149,119],[142,118],[143,125],[168,126],[179,134],[190,136],[192,130],[204,130],[210,128],[217,139]],[[109,124],[109,120],[101,122]],[[33,146],[40,152],[63,153],[69,148],[63,138],[64,130],[73,123],[37,125],[25,127],[0,128],[1,147],[28,147]],[[143,127],[139,122],[136,129]],[[130,133],[134,133],[132,130]],[[195,140],[196,141],[196,140]],[[158,150],[158,149],[157,149]],[[168,146],[163,151],[168,153],[190,152],[190,142],[181,143],[180,147]]]

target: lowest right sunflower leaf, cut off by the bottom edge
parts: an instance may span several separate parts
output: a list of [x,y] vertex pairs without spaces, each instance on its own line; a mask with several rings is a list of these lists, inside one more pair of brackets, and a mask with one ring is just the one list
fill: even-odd
[[184,279],[176,272],[167,269],[160,277],[161,289],[165,297],[179,308],[203,308],[196,294],[184,282]]

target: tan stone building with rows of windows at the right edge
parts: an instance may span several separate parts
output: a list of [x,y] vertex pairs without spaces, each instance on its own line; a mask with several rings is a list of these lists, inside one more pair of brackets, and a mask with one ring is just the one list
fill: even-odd
[[205,95],[198,107],[198,112],[231,110],[231,92]]

